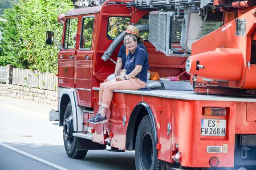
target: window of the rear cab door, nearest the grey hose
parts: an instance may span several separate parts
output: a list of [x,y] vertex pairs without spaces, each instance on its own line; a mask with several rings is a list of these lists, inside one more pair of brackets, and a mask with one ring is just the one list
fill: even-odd
[[83,18],[80,48],[91,49],[93,40],[94,17]]

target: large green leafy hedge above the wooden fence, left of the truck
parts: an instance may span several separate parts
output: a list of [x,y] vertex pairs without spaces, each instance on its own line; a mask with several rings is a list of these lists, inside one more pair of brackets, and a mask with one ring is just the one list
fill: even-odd
[[63,26],[57,16],[70,9],[70,0],[20,0],[14,8],[5,9],[1,18],[6,21],[0,21],[0,65],[56,73],[59,49],[45,44],[46,31],[53,31],[54,40],[61,42]]

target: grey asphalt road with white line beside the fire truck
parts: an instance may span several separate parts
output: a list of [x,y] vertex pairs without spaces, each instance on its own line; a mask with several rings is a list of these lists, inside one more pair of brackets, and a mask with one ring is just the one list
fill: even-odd
[[53,107],[0,96],[0,170],[134,170],[134,152],[65,153],[62,127],[49,122]]

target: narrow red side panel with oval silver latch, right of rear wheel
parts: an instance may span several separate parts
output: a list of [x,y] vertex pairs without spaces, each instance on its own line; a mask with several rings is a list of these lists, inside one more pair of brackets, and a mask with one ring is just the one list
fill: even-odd
[[162,145],[159,150],[159,159],[170,162],[171,161],[171,133],[167,134],[168,123],[172,128],[172,99],[162,99],[162,112],[161,112],[161,132],[160,132],[160,144]]

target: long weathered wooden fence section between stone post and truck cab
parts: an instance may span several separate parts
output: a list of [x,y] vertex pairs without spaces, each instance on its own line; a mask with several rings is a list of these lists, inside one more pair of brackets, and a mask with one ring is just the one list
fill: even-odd
[[57,90],[57,77],[51,73],[41,73],[29,69],[13,68],[12,84],[24,87],[35,87],[46,90]]

